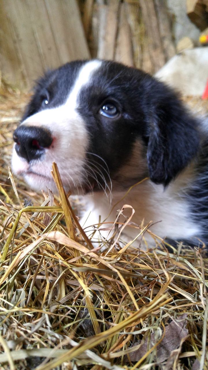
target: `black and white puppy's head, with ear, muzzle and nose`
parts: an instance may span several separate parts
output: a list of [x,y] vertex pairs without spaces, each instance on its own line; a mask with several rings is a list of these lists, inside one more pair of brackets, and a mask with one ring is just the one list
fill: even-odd
[[73,192],[117,188],[149,174],[167,185],[198,147],[197,122],[164,84],[109,61],[76,61],[41,78],[14,132],[12,167],[55,191],[51,166]]

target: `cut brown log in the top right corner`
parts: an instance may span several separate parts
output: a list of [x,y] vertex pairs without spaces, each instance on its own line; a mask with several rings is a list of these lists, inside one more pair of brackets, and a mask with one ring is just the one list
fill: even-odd
[[207,0],[187,0],[187,15],[203,31],[208,26]]

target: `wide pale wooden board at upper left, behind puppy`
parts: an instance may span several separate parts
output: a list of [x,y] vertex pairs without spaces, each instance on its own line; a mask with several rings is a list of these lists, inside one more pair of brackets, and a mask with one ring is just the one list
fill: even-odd
[[48,68],[90,58],[76,0],[1,0],[0,66],[30,86]]

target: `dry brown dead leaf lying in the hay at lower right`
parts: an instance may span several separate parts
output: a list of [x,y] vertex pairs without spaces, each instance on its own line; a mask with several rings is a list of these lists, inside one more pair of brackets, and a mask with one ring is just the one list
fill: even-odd
[[[173,319],[172,322],[165,327],[165,335],[157,346],[157,355],[154,361],[161,363],[167,360],[171,356],[171,352],[180,347],[181,341],[188,335],[186,318],[187,314],[183,314],[178,319]],[[134,345],[137,344],[139,344],[139,342]],[[130,353],[131,361],[139,361],[154,344],[155,333],[152,333],[150,339],[145,338],[144,343],[141,344],[141,347],[137,351]]]

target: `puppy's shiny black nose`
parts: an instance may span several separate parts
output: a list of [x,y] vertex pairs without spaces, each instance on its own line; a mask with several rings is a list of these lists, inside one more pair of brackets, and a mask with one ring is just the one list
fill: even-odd
[[41,127],[20,125],[14,131],[13,139],[17,143],[15,150],[20,157],[30,162],[40,158],[45,148],[50,147],[53,139],[50,130]]

